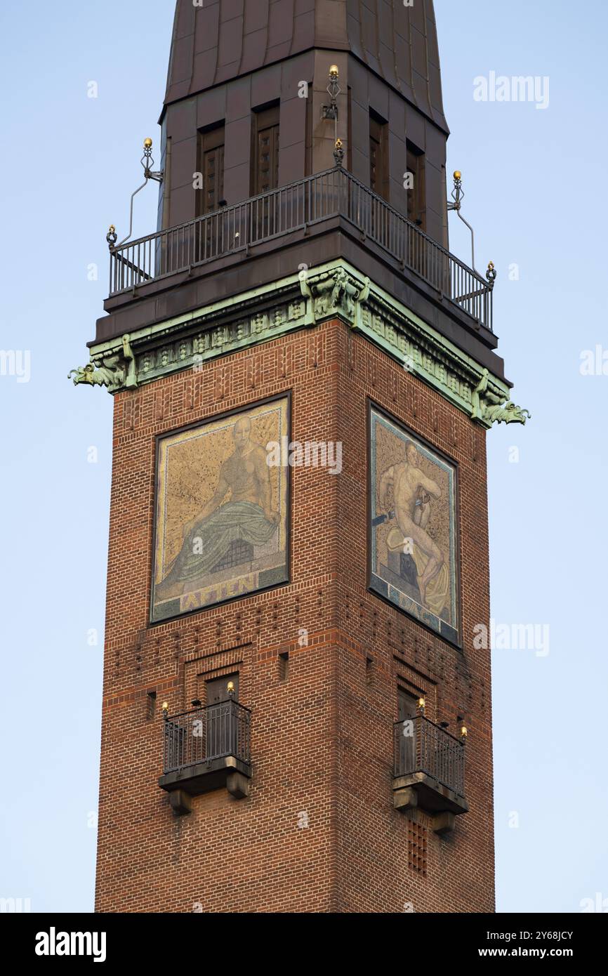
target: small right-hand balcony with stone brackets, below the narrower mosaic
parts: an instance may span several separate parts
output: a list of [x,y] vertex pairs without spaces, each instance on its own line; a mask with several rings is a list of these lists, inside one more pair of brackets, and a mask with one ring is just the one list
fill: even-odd
[[418,807],[432,816],[436,834],[448,833],[468,811],[464,741],[423,714],[395,722],[392,789],[395,809]]

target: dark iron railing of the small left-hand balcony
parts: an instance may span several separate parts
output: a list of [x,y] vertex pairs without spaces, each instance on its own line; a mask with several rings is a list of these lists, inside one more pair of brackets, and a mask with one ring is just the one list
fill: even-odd
[[233,755],[250,762],[251,712],[231,699],[168,715],[163,722],[163,772]]

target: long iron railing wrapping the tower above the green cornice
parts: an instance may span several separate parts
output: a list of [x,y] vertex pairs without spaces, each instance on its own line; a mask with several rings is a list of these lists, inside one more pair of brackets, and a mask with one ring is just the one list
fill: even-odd
[[492,329],[486,281],[342,167],[128,241],[110,244],[110,296],[332,217],[342,217],[403,267]]

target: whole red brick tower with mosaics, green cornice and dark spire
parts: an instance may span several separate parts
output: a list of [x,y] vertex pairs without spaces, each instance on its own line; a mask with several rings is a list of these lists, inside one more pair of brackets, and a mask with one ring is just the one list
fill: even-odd
[[431,0],[179,0],[161,123],[73,374],[114,396],[97,910],[493,911],[485,438],[526,412]]

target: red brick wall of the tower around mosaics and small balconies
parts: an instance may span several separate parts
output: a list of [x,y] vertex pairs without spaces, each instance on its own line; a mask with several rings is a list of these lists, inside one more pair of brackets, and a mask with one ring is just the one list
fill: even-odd
[[[148,627],[155,436],[286,390],[293,439],[344,444],[341,475],[292,470],[292,582]],[[462,654],[366,590],[368,397],[459,464]],[[342,322],[118,394],[98,911],[492,911],[489,654],[472,647],[488,619],[485,431]],[[157,786],[161,703],[181,711],[204,676],[234,670],[253,712],[251,795],[208,793],[176,817]],[[466,715],[470,812],[448,839],[392,807],[397,675],[430,718]],[[426,876],[408,859],[412,822]]]

